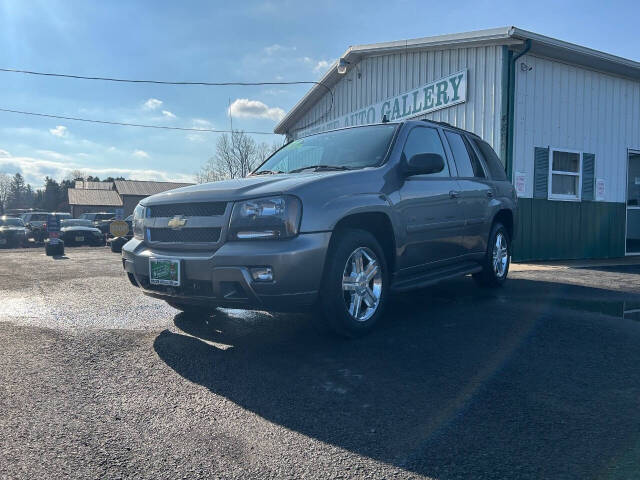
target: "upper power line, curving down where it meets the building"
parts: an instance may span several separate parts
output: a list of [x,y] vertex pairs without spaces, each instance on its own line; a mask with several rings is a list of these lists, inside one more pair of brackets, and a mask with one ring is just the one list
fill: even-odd
[[295,130],[301,130],[303,128],[309,128],[310,126],[315,125],[318,122],[324,120],[331,110],[333,110],[334,105],[334,95],[327,85],[322,82],[314,82],[314,81],[289,81],[289,82],[183,82],[183,81],[166,81],[166,80],[138,80],[138,79],[129,79],[129,78],[114,78],[114,77],[90,77],[85,75],[73,75],[67,73],[52,73],[52,72],[36,72],[33,70],[21,70],[17,68],[0,68],[0,72],[5,73],[22,73],[25,75],[38,75],[43,77],[58,77],[58,78],[72,78],[76,80],[99,80],[103,82],[119,82],[119,83],[150,83],[156,85],[200,85],[205,87],[228,87],[228,86],[239,86],[239,87],[248,87],[248,86],[265,86],[265,85],[319,85],[327,90],[327,93],[331,97],[331,102],[329,104],[329,108],[325,113],[320,115],[313,122],[305,125],[304,127],[300,127]]

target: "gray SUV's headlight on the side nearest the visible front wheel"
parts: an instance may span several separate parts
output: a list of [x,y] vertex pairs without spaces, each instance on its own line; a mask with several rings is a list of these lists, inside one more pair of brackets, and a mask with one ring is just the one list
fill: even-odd
[[229,221],[229,240],[294,237],[301,214],[300,200],[290,195],[236,202]]

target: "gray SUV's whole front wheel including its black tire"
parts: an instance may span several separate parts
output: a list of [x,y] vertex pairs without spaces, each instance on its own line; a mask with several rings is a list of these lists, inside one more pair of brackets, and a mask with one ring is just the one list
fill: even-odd
[[[367,268],[371,265],[370,259],[374,260],[379,268],[370,281],[366,281],[364,277],[362,280],[356,279],[357,276],[353,270],[355,264],[351,262],[351,259],[360,254],[363,255],[361,257],[361,271],[366,273]],[[365,261],[367,262],[366,266],[364,266]],[[352,285],[360,289],[354,290],[354,293],[343,290],[343,277],[347,277],[348,270],[351,270],[348,276],[354,276]],[[376,238],[365,230],[345,229],[335,232],[327,253],[327,263],[320,289],[320,306],[324,323],[341,336],[355,338],[365,335],[373,329],[383,315],[388,291],[387,261]],[[360,292],[364,292],[364,294],[360,295]],[[372,293],[374,296],[370,296]],[[377,301],[373,302],[376,295],[378,295]],[[375,308],[369,305],[365,298],[370,299]],[[356,299],[360,299],[359,302],[356,302]],[[356,303],[360,307],[354,307]],[[365,309],[364,312],[360,312],[362,308]],[[350,309],[352,313],[355,312],[357,316],[362,316],[362,318],[356,319],[350,313]]]

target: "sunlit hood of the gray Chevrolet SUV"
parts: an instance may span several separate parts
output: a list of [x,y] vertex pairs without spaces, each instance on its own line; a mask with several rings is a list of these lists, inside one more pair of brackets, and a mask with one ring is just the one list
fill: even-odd
[[[352,171],[353,172],[353,171]],[[272,175],[257,175],[254,177],[222,180],[219,182],[203,183],[190,187],[177,188],[158,193],[144,199],[143,205],[155,205],[173,202],[208,202],[235,201],[266,195],[278,195],[301,185],[318,181],[332,175],[348,173],[345,171],[323,171],[311,173],[285,173]]]

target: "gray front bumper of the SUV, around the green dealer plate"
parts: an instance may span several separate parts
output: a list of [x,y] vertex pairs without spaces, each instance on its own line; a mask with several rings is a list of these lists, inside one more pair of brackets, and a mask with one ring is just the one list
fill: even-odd
[[[122,263],[145,294],[177,303],[230,308],[295,311],[318,297],[330,232],[307,233],[289,240],[236,241],[215,251],[151,248],[132,239],[122,248]],[[181,261],[181,285],[149,283],[149,257]],[[272,282],[257,282],[251,267],[269,266]]]

